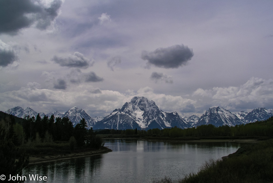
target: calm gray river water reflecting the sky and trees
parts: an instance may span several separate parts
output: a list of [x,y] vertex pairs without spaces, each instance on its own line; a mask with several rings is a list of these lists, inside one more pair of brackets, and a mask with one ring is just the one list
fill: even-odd
[[47,176],[36,182],[151,182],[151,178],[182,178],[197,172],[209,159],[234,153],[242,143],[195,142],[171,143],[134,139],[107,139],[105,146],[113,152],[29,165],[28,174]]

